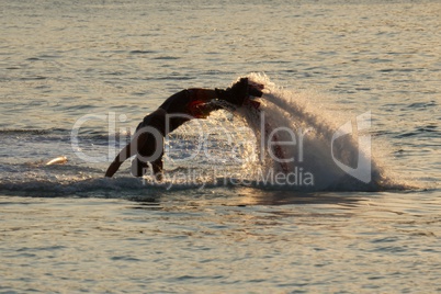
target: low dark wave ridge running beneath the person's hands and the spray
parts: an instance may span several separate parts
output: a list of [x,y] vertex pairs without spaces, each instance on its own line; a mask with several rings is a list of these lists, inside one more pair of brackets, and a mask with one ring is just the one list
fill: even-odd
[[[86,178],[86,179],[84,179]],[[182,194],[206,194],[213,189],[223,189],[222,194],[236,194],[241,188],[252,188],[258,191],[267,192],[293,192],[293,193],[315,193],[318,192],[314,188],[302,186],[295,183],[286,184],[272,182],[268,179],[242,179],[242,178],[216,178],[216,179],[180,179],[179,181],[155,182],[152,178],[146,177],[138,179],[134,177],[118,177],[108,179],[101,177],[56,177],[42,179],[35,177],[26,180],[2,180],[0,182],[0,191],[2,194],[35,196],[35,197],[111,197],[111,199],[155,199],[163,194],[178,192]],[[349,188],[349,189],[348,189]],[[419,188],[404,185],[403,183],[384,183],[372,182],[369,185],[360,185],[359,182],[351,178],[335,183],[326,190],[319,192],[381,192],[381,191],[405,191],[420,190]]]

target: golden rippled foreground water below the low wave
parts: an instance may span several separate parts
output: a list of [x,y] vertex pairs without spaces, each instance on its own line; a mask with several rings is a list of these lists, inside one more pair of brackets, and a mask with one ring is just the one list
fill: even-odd
[[[250,189],[218,192],[156,202],[1,197],[3,289],[437,290],[439,204],[415,211],[398,193],[281,192],[263,203]],[[419,201],[434,205],[434,195]]]

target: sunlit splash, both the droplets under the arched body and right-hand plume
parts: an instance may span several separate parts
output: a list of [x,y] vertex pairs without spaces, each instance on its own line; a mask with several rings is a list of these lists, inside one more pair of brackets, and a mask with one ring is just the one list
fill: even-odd
[[295,191],[415,188],[398,182],[372,152],[370,112],[336,120],[314,94],[284,90],[265,75],[248,78],[264,86],[262,98],[235,110],[226,105],[234,118],[226,111],[215,112],[206,121],[183,125],[166,140],[168,186],[190,182]]

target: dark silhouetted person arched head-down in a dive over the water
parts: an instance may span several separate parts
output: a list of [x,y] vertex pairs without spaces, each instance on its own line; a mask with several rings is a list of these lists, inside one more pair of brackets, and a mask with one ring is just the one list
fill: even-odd
[[211,112],[224,108],[228,103],[241,106],[249,95],[262,97],[263,86],[249,83],[241,78],[230,88],[182,90],[168,98],[158,110],[144,117],[136,133],[109,166],[105,177],[113,177],[121,165],[132,156],[132,174],[143,177],[150,162],[157,180],[162,179],[163,138],[180,125],[192,118],[205,118]]

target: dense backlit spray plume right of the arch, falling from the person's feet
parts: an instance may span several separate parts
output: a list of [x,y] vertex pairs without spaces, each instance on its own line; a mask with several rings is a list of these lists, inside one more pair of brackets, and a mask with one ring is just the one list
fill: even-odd
[[372,155],[369,112],[339,125],[310,97],[286,91],[264,75],[248,78],[265,89],[258,109],[236,112],[256,135],[260,167],[245,168],[258,183],[316,191],[403,189]]

